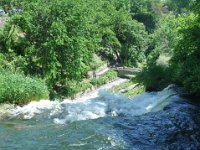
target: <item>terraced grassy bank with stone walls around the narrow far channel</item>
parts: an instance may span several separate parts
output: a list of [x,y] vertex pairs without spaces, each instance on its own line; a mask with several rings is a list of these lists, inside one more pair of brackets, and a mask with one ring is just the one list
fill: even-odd
[[[105,68],[105,67],[104,67]],[[74,93],[73,96],[67,97],[67,99],[77,99],[81,97],[82,95],[85,95],[89,92],[92,92],[96,90],[97,88],[104,86],[108,83],[115,82],[121,77],[125,77],[125,82],[121,83],[120,85],[113,86],[109,91],[113,94],[122,94],[128,98],[132,98],[134,96],[137,96],[143,92],[145,92],[145,87],[143,84],[138,83],[136,80],[134,80],[135,73],[138,73],[138,70],[140,69],[131,69],[128,68],[106,68],[103,69],[106,71],[99,71],[99,72],[104,72],[101,75],[98,75],[93,78],[90,78],[82,83],[80,83],[80,90],[76,90],[78,92]],[[100,74],[98,71],[95,71],[96,74]],[[64,99],[64,97],[63,97]]]

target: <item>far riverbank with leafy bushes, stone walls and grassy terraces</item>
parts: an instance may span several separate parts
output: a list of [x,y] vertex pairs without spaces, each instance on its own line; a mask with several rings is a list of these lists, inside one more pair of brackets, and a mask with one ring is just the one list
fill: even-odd
[[48,90],[44,80],[35,77],[31,79],[31,77],[26,77],[22,73],[2,69],[2,73],[0,73],[2,80],[0,84],[0,102],[24,105],[31,101],[47,98],[49,93],[51,100],[59,99],[62,101],[66,98],[74,100],[103,85],[114,82],[119,77],[126,77],[128,84],[122,83],[117,87],[113,87],[112,93],[124,94],[124,96],[130,98],[144,92],[142,90],[143,86],[133,81],[134,73],[137,73],[138,69],[110,68],[97,55],[94,55],[94,60],[91,70],[87,73],[87,78],[82,79],[82,81],[66,83],[64,86],[58,85],[53,90]]

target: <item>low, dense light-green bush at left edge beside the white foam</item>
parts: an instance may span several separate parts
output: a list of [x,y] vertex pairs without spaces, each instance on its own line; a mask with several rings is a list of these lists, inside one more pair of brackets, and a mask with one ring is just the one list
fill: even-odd
[[41,79],[10,71],[0,71],[0,103],[24,104],[48,98],[49,92]]

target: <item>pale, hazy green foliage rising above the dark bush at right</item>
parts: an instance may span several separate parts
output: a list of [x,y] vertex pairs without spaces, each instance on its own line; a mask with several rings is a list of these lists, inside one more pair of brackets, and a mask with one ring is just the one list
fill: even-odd
[[[157,29],[151,35],[153,50],[147,51],[147,55],[151,56],[151,53],[173,55],[173,49],[176,46],[179,35],[178,28],[181,27],[181,22],[173,14],[164,16],[158,23]],[[154,54],[153,54],[154,55]],[[156,60],[155,60],[156,61]]]

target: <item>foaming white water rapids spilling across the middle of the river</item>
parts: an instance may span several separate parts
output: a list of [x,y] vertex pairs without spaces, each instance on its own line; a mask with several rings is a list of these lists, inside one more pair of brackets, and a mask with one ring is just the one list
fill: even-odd
[[169,103],[168,98],[175,94],[168,87],[161,92],[144,93],[129,100],[120,94],[108,92],[108,89],[120,85],[124,81],[126,79],[117,79],[73,101],[68,99],[62,102],[40,100],[22,107],[1,105],[0,120],[17,117],[31,119],[37,115],[45,114],[47,119],[51,119],[56,124],[66,124],[105,116],[137,116],[163,109]]

